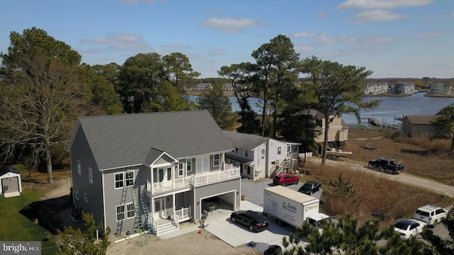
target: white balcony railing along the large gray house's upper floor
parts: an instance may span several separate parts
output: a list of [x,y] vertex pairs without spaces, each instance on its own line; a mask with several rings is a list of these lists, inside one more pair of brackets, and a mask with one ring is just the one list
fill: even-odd
[[209,171],[158,183],[150,183],[150,181],[147,180],[147,192],[152,194],[160,193],[163,191],[171,191],[176,188],[186,188],[189,186],[199,186],[207,183],[226,181],[228,179],[238,178],[239,176],[240,168],[238,166],[225,164],[224,170]]

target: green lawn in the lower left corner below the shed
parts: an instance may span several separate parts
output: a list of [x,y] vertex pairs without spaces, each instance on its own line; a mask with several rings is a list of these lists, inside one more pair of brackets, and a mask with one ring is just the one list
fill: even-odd
[[39,200],[38,191],[24,190],[21,196],[4,198],[0,196],[0,240],[1,241],[41,241],[42,254],[60,254],[55,237],[33,220],[21,214],[21,210]]

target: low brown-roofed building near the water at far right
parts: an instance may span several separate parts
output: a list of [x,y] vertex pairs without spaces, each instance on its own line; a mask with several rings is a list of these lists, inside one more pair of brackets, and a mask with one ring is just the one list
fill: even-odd
[[410,137],[428,137],[443,129],[432,123],[439,115],[406,115],[402,119],[402,132]]

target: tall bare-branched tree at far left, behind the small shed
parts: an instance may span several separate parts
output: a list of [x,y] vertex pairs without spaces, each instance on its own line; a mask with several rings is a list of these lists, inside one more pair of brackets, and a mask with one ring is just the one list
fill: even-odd
[[65,149],[77,116],[91,110],[77,66],[80,56],[40,29],[10,38],[9,54],[1,55],[0,128],[6,132],[0,134],[0,145],[6,157],[26,150],[35,167],[44,161],[52,183],[52,152]]

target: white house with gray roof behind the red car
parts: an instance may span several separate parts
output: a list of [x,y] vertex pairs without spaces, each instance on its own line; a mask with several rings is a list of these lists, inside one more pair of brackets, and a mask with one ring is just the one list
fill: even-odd
[[299,144],[296,142],[227,130],[223,132],[235,147],[226,152],[226,163],[239,166],[243,178],[262,179],[269,177],[275,169],[281,172],[297,166]]

